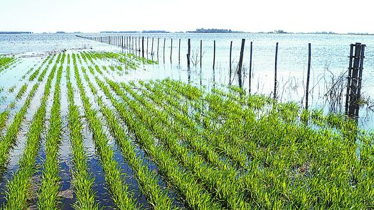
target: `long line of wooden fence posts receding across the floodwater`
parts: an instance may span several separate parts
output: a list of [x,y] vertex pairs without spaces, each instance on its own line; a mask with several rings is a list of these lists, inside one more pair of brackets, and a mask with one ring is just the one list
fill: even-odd
[[[134,35],[107,35],[107,36],[81,36],[76,35],[79,38],[85,38],[88,40],[95,40],[101,43],[107,43],[109,45],[114,45],[122,49],[133,50],[134,54],[139,57],[154,58],[154,53],[156,52],[157,61],[159,61],[159,47],[160,47],[160,38],[157,38],[157,48],[154,52],[154,37],[151,38],[151,52],[149,52],[149,37],[144,38],[144,36],[134,36]],[[146,43],[144,43],[146,41]],[[170,40],[171,50],[170,50],[170,62],[172,63],[172,54],[173,54],[173,38]],[[164,38],[163,45],[163,62],[165,63],[165,45],[166,38]],[[190,68],[191,65],[191,39],[188,38],[187,42],[188,48],[186,53],[187,67]],[[277,99],[277,58],[278,58],[278,45],[275,45],[275,57],[274,57],[274,99]],[[146,50],[144,50],[144,47]],[[308,46],[308,69],[306,74],[306,92],[305,92],[305,109],[308,109],[309,106],[309,81],[310,81],[310,71],[311,71],[311,43]],[[240,47],[240,57],[237,64],[237,69],[234,72],[237,74],[238,85],[240,88],[243,87],[242,81],[242,60],[244,57],[245,50],[245,39],[242,39],[242,44]],[[347,77],[347,90],[346,90],[346,103],[345,103],[345,114],[352,118],[358,118],[358,101],[360,99],[360,89],[362,84],[362,74],[363,74],[363,58],[365,51],[365,45],[361,43],[351,44],[351,54],[349,56],[349,66],[348,66],[348,77]],[[233,77],[233,68],[232,68],[232,52],[233,52],[233,41],[230,42],[230,54],[229,54],[229,85],[231,85],[231,78]],[[251,75],[252,75],[252,41],[250,42],[250,64],[249,64],[249,93],[251,92]],[[146,53],[144,55],[144,53]],[[200,67],[203,60],[203,40],[200,40]],[[178,63],[181,63],[181,38],[178,40]],[[215,40],[213,40],[213,70],[215,69]]]

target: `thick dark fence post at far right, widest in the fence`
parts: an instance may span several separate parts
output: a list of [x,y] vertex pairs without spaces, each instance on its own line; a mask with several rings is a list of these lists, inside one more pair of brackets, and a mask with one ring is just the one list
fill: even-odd
[[361,94],[364,52],[365,45],[361,45],[361,43],[351,45],[347,77],[346,115],[356,119],[358,118],[358,100]]

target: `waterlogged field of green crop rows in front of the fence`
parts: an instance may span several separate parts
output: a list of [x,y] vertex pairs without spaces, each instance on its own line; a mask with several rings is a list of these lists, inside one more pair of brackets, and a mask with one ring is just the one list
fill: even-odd
[[132,54],[28,63],[2,89],[1,209],[374,208],[374,134],[344,116],[129,78],[155,64]]

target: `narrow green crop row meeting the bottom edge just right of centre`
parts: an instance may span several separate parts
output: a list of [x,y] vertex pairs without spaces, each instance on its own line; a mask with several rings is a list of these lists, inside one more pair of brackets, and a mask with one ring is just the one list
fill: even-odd
[[[122,101],[114,99],[114,96],[109,92],[109,88],[105,86],[104,82],[100,81],[97,77],[96,80],[105,95],[112,101],[112,104],[116,107],[121,117],[126,121],[129,130],[134,133],[146,153],[156,162],[159,171],[164,174],[168,182],[183,197],[183,201],[192,209],[220,209],[220,205],[212,201],[210,194],[205,192],[203,186],[191,177],[191,173],[183,171],[171,153],[161,150],[156,145],[154,136],[139,121],[139,118],[134,116],[132,111],[129,110],[130,107],[131,109],[139,110],[139,106],[132,101],[127,101],[127,106],[125,106]],[[113,88],[118,91],[116,87]]]

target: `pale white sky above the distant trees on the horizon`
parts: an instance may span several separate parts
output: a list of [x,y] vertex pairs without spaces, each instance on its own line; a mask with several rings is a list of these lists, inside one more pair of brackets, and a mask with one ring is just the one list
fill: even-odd
[[374,33],[372,5],[369,0],[1,0],[0,31]]

